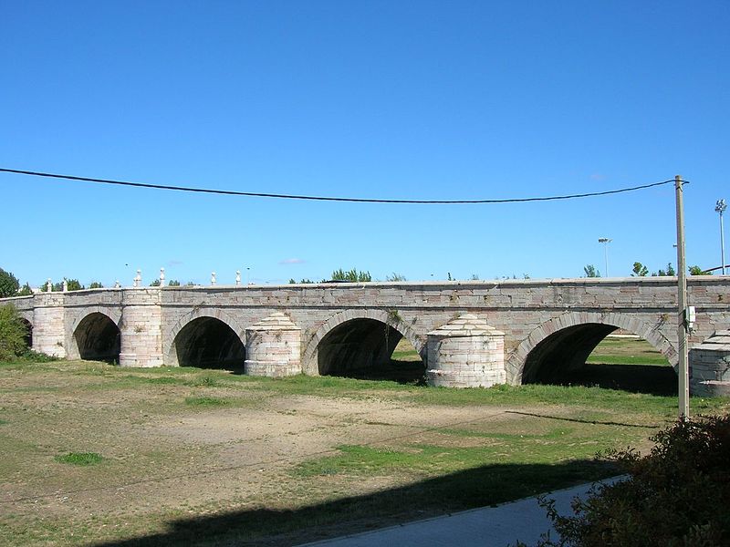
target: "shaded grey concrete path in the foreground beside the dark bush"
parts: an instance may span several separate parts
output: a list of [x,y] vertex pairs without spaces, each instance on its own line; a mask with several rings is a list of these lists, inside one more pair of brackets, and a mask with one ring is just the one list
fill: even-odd
[[[575,496],[584,496],[589,488],[590,483],[582,484],[566,490],[549,492],[547,496],[556,501],[556,508],[560,514],[568,514],[570,501]],[[537,505],[535,497],[512,501],[497,507],[483,507],[425,521],[408,522],[400,526],[334,540],[307,543],[307,547],[380,547],[381,545],[506,547],[514,545],[517,541],[535,545],[540,539],[540,534],[551,529],[545,510]],[[552,532],[551,537],[557,536]]]

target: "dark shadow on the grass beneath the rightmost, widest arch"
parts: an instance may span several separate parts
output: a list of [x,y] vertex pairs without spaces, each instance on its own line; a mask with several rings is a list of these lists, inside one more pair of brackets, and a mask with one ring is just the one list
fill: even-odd
[[677,375],[672,366],[589,363],[555,378],[561,386],[596,386],[631,393],[671,397],[677,395]]

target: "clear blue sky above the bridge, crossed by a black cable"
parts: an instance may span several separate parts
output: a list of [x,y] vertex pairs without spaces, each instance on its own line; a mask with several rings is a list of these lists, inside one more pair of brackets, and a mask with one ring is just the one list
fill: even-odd
[[[4,2],[0,167],[235,191],[500,199],[685,187],[720,263],[730,3]],[[579,277],[676,263],[672,185],[369,205],[0,173],[0,267],[130,284]],[[248,270],[246,269],[248,268]]]

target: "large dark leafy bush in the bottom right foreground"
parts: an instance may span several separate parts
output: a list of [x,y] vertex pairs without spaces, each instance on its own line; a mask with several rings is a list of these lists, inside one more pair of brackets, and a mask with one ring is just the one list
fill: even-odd
[[730,545],[730,416],[681,420],[652,440],[647,456],[631,449],[610,454],[628,479],[573,501],[573,516],[541,501],[559,540],[538,545]]

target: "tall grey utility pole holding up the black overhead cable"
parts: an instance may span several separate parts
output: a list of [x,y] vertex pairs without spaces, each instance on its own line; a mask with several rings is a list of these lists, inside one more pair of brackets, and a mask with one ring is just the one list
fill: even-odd
[[684,263],[684,202],[683,181],[680,175],[674,177],[674,192],[677,204],[677,338],[679,373],[679,418],[690,417],[689,353],[687,350],[687,266]]

